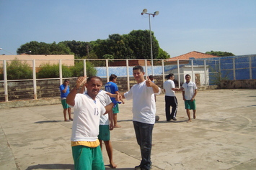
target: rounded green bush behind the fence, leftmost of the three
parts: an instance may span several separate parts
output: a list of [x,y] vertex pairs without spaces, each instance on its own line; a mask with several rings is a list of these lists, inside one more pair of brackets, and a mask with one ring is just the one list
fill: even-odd
[[[7,79],[8,80],[23,80],[32,79],[33,71],[27,62],[22,62],[15,58],[12,62],[7,62],[6,65]],[[1,68],[0,79],[4,80],[4,70]]]

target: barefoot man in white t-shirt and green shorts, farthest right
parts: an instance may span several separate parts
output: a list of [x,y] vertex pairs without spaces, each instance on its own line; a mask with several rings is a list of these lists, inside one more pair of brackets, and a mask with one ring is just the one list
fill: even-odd
[[195,82],[190,81],[190,75],[185,75],[186,82],[182,85],[182,96],[185,101],[185,109],[187,112],[187,123],[191,122],[190,110],[193,110],[193,118],[195,119],[195,95],[198,93],[198,88],[195,85]]

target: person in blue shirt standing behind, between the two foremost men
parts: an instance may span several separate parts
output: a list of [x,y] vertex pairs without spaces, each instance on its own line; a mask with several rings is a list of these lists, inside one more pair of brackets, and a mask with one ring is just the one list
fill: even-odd
[[[111,93],[111,94],[118,93],[118,85],[115,83],[116,80],[118,80],[118,76],[116,76],[114,74],[110,75],[110,82],[107,82],[105,84],[105,90],[108,93]],[[112,100],[112,103],[116,103],[115,98],[111,98],[111,100]],[[112,110],[114,113],[113,114],[114,128],[120,128],[121,126],[118,125],[118,114],[117,114],[117,113],[119,113],[118,103],[116,103],[115,107],[112,108]]]

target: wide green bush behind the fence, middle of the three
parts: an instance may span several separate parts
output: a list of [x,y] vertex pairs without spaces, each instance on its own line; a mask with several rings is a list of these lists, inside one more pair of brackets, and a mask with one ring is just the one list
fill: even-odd
[[[69,70],[69,67],[62,65],[62,77],[71,77],[72,72]],[[39,71],[37,72],[37,78],[58,78],[60,77],[59,73],[59,64],[50,65],[50,63],[44,63],[40,66]]]

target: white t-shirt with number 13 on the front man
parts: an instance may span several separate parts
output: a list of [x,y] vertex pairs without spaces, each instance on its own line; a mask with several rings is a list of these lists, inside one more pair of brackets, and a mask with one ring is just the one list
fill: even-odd
[[[72,107],[72,106],[71,106]],[[100,116],[105,107],[99,99],[87,94],[76,94],[71,141],[96,141],[99,135]]]

